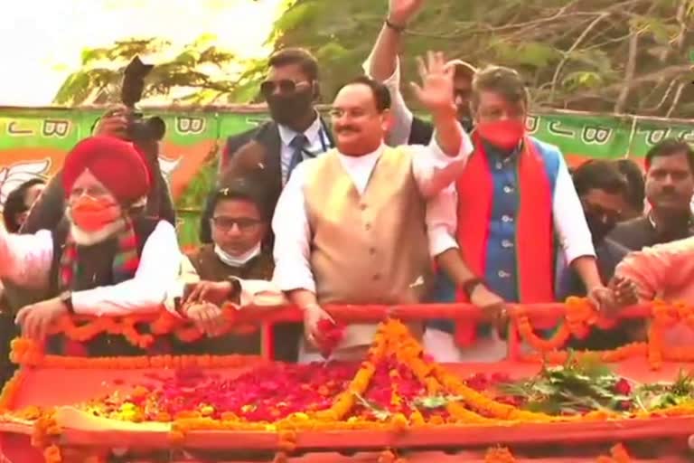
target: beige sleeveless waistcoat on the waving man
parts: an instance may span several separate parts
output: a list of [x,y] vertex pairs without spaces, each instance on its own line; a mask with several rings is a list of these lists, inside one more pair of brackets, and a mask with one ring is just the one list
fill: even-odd
[[[311,268],[321,304],[412,304],[432,281],[426,204],[407,148],[386,147],[363,195],[335,150],[307,166]],[[341,347],[370,344],[375,326],[350,326]]]

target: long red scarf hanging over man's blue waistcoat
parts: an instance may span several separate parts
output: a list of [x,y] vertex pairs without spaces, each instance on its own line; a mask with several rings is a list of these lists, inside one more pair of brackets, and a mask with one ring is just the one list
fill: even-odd
[[[457,182],[458,244],[465,261],[484,277],[489,225],[492,215],[493,180],[482,139],[474,137],[474,153]],[[516,271],[519,302],[532,304],[554,300],[554,230],[552,187],[545,162],[529,137],[522,143],[518,166],[520,205],[516,216]],[[456,300],[468,302],[462,289]],[[476,326],[458,324],[458,345],[474,343]]]

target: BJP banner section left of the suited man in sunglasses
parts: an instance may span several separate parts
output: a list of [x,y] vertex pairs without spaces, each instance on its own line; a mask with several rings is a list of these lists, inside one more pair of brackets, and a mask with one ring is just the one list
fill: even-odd
[[[103,112],[0,109],[0,206],[23,182],[55,174],[70,148],[89,137]],[[166,124],[159,163],[176,204],[179,237],[183,246],[192,245],[198,241],[202,204],[215,180],[223,140],[266,117],[258,112],[218,114],[194,109],[157,110],[156,115]]]

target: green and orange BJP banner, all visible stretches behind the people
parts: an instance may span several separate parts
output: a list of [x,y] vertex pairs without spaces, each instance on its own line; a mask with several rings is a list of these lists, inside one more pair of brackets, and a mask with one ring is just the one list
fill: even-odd
[[[14,188],[33,177],[49,177],[70,148],[88,137],[103,109],[0,108],[0,205]],[[227,137],[267,120],[258,109],[203,110],[176,107],[146,111],[164,118],[166,136],[159,162],[178,213],[183,246],[198,242],[205,196],[214,184],[218,155]],[[646,119],[553,111],[527,120],[530,135],[558,146],[569,165],[587,158],[632,157],[667,137],[694,143],[694,121]]]

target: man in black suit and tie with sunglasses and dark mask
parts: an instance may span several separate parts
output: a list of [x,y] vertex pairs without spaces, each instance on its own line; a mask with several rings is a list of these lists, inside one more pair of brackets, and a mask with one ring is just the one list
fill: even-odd
[[[305,50],[287,48],[268,61],[267,80],[260,92],[272,120],[258,128],[231,136],[220,157],[220,173],[234,161],[241,146],[255,140],[265,146],[263,162],[272,177],[271,203],[277,203],[282,187],[296,165],[333,147],[333,136],[314,103],[318,99],[318,63]],[[209,208],[202,216],[200,240],[211,242]]]

